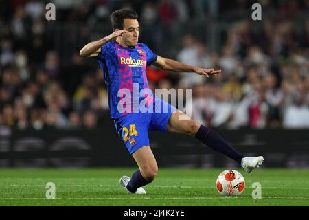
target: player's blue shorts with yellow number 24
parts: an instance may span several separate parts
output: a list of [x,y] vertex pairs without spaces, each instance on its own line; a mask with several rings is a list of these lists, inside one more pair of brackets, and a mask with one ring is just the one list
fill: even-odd
[[130,154],[143,146],[150,145],[148,131],[168,133],[168,120],[170,115],[177,109],[157,97],[155,98],[154,109],[158,102],[161,102],[161,110],[168,109],[168,111],[161,111],[161,113],[157,113],[158,111],[153,113],[128,113],[128,115],[114,119],[116,131],[122,137]]

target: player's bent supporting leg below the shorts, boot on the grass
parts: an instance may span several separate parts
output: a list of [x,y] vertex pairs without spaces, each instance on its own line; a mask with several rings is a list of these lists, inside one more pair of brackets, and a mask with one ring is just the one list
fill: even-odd
[[131,178],[127,176],[121,177],[119,182],[128,192],[146,194],[142,186],[150,184],[155,179],[158,172],[155,156],[150,146],[139,148],[132,155],[139,166],[139,170],[136,170]]

